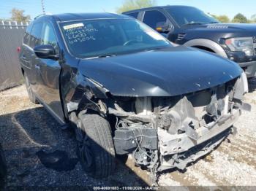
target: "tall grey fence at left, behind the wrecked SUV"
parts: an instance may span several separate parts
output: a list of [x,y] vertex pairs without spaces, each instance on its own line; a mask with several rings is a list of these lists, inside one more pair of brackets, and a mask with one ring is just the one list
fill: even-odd
[[23,82],[17,48],[28,24],[0,20],[0,90]]

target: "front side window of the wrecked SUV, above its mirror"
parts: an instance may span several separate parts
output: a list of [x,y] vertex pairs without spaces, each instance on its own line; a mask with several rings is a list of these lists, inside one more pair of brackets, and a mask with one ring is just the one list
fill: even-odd
[[53,26],[50,25],[50,23],[44,23],[41,44],[50,44],[55,48],[58,47],[54,29]]

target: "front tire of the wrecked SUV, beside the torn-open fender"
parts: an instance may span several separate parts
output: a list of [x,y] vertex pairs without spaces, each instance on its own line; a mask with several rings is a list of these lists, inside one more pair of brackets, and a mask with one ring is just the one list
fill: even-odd
[[77,153],[83,170],[94,178],[113,174],[116,159],[108,121],[98,114],[80,112],[77,126]]

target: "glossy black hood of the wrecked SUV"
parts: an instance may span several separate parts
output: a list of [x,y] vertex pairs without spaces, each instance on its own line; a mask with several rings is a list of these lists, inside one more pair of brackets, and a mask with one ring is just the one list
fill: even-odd
[[190,47],[81,59],[80,73],[112,95],[172,96],[223,84],[241,75],[238,64]]

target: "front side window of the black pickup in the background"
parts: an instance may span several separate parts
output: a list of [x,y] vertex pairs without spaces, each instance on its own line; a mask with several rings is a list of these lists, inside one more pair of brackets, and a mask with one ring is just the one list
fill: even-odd
[[167,18],[165,17],[165,15],[162,14],[162,12],[159,12],[157,10],[146,11],[143,17],[143,23],[146,23],[148,26],[154,29],[157,28],[157,23],[166,22],[166,21],[167,21]]

